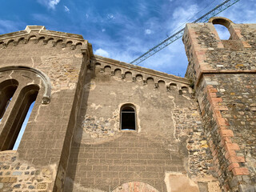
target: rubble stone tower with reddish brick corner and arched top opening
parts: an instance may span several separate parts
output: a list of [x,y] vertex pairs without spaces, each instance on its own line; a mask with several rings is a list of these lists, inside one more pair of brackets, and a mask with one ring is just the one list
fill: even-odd
[[[215,24],[225,24],[230,40],[221,40]],[[224,24],[223,24],[224,25]],[[255,186],[255,25],[226,18],[188,24],[183,42],[218,179],[226,191]]]

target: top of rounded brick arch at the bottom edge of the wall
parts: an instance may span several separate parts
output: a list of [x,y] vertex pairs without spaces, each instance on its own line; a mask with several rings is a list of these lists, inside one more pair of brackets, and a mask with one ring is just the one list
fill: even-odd
[[150,186],[146,182],[125,182],[120,186],[117,186],[112,192],[159,192]]

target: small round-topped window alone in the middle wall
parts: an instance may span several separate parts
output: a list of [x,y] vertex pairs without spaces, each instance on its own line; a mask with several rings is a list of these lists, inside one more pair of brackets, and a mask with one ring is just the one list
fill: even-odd
[[121,107],[121,130],[136,130],[136,112],[133,105]]

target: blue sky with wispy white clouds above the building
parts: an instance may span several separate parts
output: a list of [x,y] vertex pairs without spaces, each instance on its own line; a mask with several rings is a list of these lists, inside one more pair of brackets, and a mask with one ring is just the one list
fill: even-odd
[[[94,54],[131,62],[173,34],[178,26],[188,21],[193,22],[221,2],[2,0],[0,34],[24,30],[27,25],[42,25],[47,30],[82,34],[92,43]],[[254,23],[255,12],[254,0],[240,0],[219,16],[230,18],[236,23]],[[182,40],[172,43],[140,66],[184,76],[187,59]]]

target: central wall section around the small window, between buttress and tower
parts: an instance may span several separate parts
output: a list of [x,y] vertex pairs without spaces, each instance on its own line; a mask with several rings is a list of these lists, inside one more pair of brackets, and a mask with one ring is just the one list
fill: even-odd
[[[186,191],[186,185],[218,191],[190,82],[110,59],[94,64],[86,74],[65,191],[109,191],[127,182],[158,191]],[[136,107],[134,131],[120,130],[126,103]],[[185,182],[173,182],[175,177]]]

